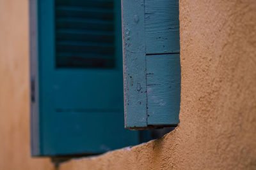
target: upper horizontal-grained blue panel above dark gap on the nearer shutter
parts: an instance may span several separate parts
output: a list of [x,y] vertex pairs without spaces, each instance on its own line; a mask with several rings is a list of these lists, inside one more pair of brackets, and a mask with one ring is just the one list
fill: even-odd
[[179,53],[179,1],[145,0],[147,53]]

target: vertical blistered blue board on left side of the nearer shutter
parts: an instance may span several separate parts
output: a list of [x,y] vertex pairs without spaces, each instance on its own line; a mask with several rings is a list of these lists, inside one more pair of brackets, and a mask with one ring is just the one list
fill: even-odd
[[147,127],[143,0],[122,0],[125,127]]

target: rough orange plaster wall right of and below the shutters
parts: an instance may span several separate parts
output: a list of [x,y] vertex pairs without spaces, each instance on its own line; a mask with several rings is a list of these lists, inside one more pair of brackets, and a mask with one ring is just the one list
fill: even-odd
[[180,124],[71,169],[256,169],[256,1],[180,0]]

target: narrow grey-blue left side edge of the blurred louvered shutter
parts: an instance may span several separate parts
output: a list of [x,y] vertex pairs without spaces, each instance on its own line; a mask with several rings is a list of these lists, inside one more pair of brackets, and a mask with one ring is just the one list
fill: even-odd
[[40,155],[40,115],[38,85],[38,1],[29,1],[29,45],[30,45],[30,134],[31,155]]

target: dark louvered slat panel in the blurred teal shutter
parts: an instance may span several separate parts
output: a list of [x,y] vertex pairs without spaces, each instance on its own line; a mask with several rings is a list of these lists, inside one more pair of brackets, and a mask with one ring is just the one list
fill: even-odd
[[56,67],[114,67],[113,1],[56,0]]

